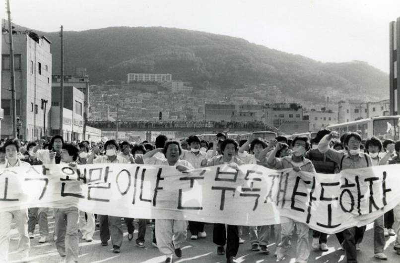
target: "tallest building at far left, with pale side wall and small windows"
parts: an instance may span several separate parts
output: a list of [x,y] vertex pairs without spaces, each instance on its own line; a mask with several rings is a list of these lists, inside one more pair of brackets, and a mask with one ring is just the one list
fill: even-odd
[[[19,128],[22,140],[31,141],[50,135],[50,45],[50,40],[33,32],[13,34],[16,114],[22,122]],[[1,137],[12,138],[11,72],[6,34],[3,34],[1,48],[1,108],[4,114]]]

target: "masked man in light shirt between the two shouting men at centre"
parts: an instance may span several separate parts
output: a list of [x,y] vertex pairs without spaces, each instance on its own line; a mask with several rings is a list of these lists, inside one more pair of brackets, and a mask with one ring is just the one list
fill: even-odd
[[[187,160],[190,164],[197,168],[201,168],[201,160],[205,158],[206,153],[200,152],[200,138],[196,135],[191,135],[188,138],[188,144],[190,150],[183,150],[182,149],[182,160]],[[203,222],[195,222],[189,221],[189,229],[192,233],[191,239],[196,240],[198,237],[205,238],[207,234],[204,231],[204,223]]]

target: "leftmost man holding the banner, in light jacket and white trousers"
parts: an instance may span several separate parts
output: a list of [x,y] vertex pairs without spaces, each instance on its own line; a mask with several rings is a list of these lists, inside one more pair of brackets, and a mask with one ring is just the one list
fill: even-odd
[[[21,161],[18,158],[19,141],[8,140],[4,143],[3,149],[5,151],[6,161],[1,164],[0,169],[8,167],[29,167],[30,164]],[[18,174],[15,174],[18,176]],[[8,248],[10,243],[11,222],[15,221],[16,229],[19,233],[19,241],[17,251],[20,252],[21,262],[29,261],[29,251],[31,248],[29,234],[28,234],[28,210],[13,210],[8,212],[0,212],[0,262],[8,262]]]

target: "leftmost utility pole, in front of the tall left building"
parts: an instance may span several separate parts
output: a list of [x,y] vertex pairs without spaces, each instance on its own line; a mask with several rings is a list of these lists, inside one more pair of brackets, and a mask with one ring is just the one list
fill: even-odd
[[10,73],[11,73],[11,105],[12,105],[12,137],[17,138],[17,102],[15,100],[15,72],[14,72],[14,48],[12,44],[12,26],[10,1],[7,0],[8,35],[10,42]]

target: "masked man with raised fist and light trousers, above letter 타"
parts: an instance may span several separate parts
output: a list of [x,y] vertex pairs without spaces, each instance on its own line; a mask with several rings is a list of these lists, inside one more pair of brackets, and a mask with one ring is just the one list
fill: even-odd
[[[276,158],[275,155],[282,147],[282,143],[277,143],[275,149],[269,155],[267,164],[273,169],[293,168],[293,171],[298,174],[298,171],[315,172],[313,163],[304,158],[306,152],[310,149],[310,144],[307,137],[295,137],[292,141],[293,154],[288,157]],[[288,222],[281,223],[280,238],[281,242],[278,245],[276,258],[283,260],[290,249],[290,239],[296,227],[298,236],[296,248],[296,262],[304,263],[308,261],[310,256],[310,244],[308,241],[309,227],[306,223],[288,219]]]

